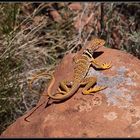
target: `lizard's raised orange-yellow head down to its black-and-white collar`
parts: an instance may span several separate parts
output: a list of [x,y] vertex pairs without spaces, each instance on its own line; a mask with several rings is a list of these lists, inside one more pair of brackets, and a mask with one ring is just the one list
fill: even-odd
[[84,53],[87,54],[89,57],[92,57],[95,50],[99,47],[104,46],[105,41],[99,38],[93,38],[86,46]]

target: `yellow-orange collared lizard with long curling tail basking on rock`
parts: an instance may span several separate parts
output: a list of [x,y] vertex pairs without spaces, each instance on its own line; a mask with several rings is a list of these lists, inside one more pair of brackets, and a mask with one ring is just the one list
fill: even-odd
[[[49,106],[52,103],[59,103],[59,102],[69,99],[76,93],[76,91],[80,88],[80,86],[84,86],[84,88],[82,90],[82,93],[84,95],[92,94],[92,93],[95,93],[95,92],[98,92],[98,91],[101,91],[101,90],[107,88],[107,86],[96,86],[96,87],[92,88],[92,86],[94,86],[96,84],[97,78],[95,76],[86,77],[86,75],[89,71],[89,68],[92,65],[97,68],[100,68],[100,69],[111,68],[110,63],[100,64],[93,58],[94,52],[99,47],[104,46],[104,45],[105,45],[105,41],[103,39],[93,38],[84,48],[82,48],[82,50],[80,51],[80,53],[78,55],[74,56],[74,58],[73,58],[73,63],[74,63],[73,80],[72,81],[66,81],[66,80],[60,81],[60,84],[58,87],[58,91],[59,91],[58,93],[51,92],[52,86],[55,83],[55,78],[52,74],[51,75],[48,74],[52,77],[52,82],[49,85],[48,90],[47,90],[47,96],[48,96],[47,106]],[[42,104],[44,104],[44,103],[45,102],[43,102]],[[40,104],[37,108],[39,108],[42,104]],[[25,120],[31,114],[29,114],[25,118]]]

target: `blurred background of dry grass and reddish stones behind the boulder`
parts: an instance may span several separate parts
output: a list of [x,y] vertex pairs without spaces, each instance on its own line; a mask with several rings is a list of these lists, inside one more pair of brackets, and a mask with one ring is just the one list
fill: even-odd
[[140,3],[0,3],[0,133],[33,108],[55,69],[93,36],[140,59]]

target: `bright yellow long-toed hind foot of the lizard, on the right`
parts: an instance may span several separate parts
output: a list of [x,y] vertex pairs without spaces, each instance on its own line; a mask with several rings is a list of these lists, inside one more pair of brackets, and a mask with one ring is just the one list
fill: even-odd
[[107,86],[96,86],[94,88],[90,88],[89,90],[83,90],[84,95],[92,94],[98,91],[101,91],[103,89],[107,88]]

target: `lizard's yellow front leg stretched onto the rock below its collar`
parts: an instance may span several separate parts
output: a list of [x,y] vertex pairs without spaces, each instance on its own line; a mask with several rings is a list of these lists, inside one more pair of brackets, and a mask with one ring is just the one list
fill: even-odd
[[94,58],[91,59],[91,64],[93,66],[96,66],[96,68],[101,68],[101,69],[109,69],[109,68],[111,68],[111,63],[102,63],[102,64],[100,64]]

